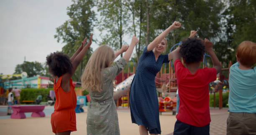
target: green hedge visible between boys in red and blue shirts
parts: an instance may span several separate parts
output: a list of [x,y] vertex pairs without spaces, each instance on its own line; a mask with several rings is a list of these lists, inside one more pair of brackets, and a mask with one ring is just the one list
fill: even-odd
[[[210,107],[214,107],[214,98],[213,98],[213,94],[210,94],[209,97],[210,97]],[[228,107],[228,92],[226,93],[223,93],[222,94],[222,106],[223,107]],[[219,93],[215,93],[215,107],[219,107]]]

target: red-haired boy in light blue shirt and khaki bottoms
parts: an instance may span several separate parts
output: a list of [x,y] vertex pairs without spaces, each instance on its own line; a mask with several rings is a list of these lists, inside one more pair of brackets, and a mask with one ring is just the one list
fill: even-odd
[[227,135],[256,135],[256,43],[243,41],[229,71]]

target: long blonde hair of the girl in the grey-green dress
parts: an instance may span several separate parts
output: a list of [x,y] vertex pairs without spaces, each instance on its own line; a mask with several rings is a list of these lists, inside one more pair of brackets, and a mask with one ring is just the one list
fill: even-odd
[[98,47],[90,57],[84,73],[81,76],[82,89],[100,91],[102,84],[102,71],[109,67],[115,59],[112,48],[106,45]]

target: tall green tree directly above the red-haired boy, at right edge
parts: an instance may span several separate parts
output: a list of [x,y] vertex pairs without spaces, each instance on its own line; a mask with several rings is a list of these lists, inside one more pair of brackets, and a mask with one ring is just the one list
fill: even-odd
[[236,62],[236,48],[242,41],[256,42],[256,1],[229,0],[229,7],[223,13],[225,38],[232,63]]

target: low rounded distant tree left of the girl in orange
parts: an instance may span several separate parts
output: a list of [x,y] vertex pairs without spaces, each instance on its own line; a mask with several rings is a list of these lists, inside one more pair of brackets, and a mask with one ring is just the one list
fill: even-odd
[[23,64],[18,64],[15,67],[14,74],[21,74],[22,72],[27,72],[27,77],[33,77],[33,76],[43,76],[45,73],[43,64],[35,61],[35,62],[29,62],[24,61]]

